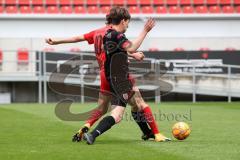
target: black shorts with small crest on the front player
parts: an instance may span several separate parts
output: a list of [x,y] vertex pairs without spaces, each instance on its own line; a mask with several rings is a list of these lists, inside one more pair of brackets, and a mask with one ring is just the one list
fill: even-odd
[[133,84],[129,79],[119,80],[116,78],[109,79],[110,90],[112,93],[112,105],[126,107],[128,100],[134,95],[132,90]]

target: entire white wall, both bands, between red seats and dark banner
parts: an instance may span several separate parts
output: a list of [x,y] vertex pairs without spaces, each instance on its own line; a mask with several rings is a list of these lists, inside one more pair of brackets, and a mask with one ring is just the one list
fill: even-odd
[[[15,49],[27,47],[42,49],[46,37],[71,37],[87,33],[104,25],[104,16],[92,17],[14,17],[0,16],[0,47]],[[198,50],[201,47],[221,50],[226,47],[240,49],[240,20],[219,16],[162,16],[156,17],[156,27],[150,32],[142,45],[142,50],[157,47],[160,50],[172,50],[182,47],[186,50]],[[133,39],[144,25],[143,17],[134,16],[127,37]],[[9,39],[10,38],[10,39]],[[21,39],[16,39],[21,38]],[[32,39],[32,40],[30,40]],[[11,43],[10,43],[11,41]],[[54,46],[58,50],[80,47],[93,50],[87,43]]]

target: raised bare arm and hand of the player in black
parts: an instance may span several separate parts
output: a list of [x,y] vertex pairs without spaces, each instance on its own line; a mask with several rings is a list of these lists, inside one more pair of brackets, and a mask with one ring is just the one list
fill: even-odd
[[130,53],[134,53],[141,46],[143,40],[149,31],[155,26],[155,20],[153,18],[149,18],[144,25],[143,31],[138,35],[137,39],[132,41],[129,45],[126,46],[126,50]]

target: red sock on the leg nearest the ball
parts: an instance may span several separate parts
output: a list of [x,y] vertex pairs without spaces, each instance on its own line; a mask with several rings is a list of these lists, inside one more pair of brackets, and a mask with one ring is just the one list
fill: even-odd
[[158,126],[153,117],[151,108],[147,106],[146,108],[143,109],[143,113],[148,125],[152,129],[153,134],[158,134],[159,133]]

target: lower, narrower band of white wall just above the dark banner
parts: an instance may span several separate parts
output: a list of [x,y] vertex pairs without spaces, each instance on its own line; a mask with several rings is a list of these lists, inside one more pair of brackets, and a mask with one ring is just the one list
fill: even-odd
[[[133,38],[130,38],[133,39]],[[93,46],[86,42],[75,44],[64,44],[49,46],[44,38],[0,38],[0,48],[2,50],[16,51],[18,48],[28,48],[29,50],[43,50],[46,47],[54,48],[57,51],[69,51],[71,48],[78,47],[82,51],[93,51]],[[233,47],[240,50],[239,38],[147,38],[140,50],[149,48],[159,48],[159,50],[172,51],[174,48],[182,47],[185,50],[199,50],[208,47],[211,50],[224,50]]]

